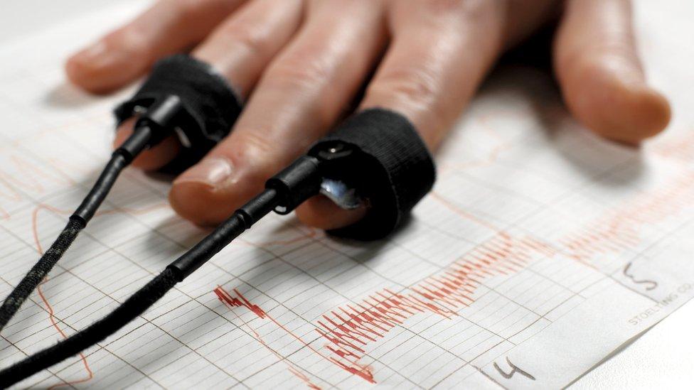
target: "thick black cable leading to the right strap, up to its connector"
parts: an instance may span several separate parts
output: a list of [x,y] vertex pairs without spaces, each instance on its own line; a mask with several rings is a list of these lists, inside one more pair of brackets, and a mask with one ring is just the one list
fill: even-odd
[[104,340],[121,327],[144,313],[147,308],[163,297],[176,283],[205,264],[221,249],[227,246],[252,224],[271,212],[281,201],[280,192],[267,189],[247,202],[212,233],[198,242],[185,254],[173,261],[152,281],[140,288],[116,310],[92,325],[75,333],[16,364],[0,371],[0,388],[16,384],[18,381],[80,353],[97,342]]

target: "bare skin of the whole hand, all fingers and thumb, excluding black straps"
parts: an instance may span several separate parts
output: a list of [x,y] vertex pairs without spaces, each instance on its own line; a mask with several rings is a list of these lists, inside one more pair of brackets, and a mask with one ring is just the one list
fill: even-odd
[[[557,15],[553,67],[576,119],[632,145],[663,131],[670,106],[646,84],[628,0],[160,0],[65,68],[103,94],[193,48],[228,78],[246,100],[241,116],[169,194],[182,217],[214,225],[340,121],[370,75],[358,109],[404,114],[435,151],[499,55]],[[178,148],[171,137],[134,165],[156,170]],[[365,212],[314,197],[297,217],[333,229]]]

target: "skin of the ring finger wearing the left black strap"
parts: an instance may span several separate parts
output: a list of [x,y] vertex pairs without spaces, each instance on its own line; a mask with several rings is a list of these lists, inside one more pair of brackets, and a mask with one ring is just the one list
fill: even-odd
[[[254,0],[227,18],[194,52],[218,70],[242,99],[252,90],[264,68],[287,44],[301,23],[301,0]],[[114,146],[132,134],[132,121],[117,132]],[[133,164],[156,170],[169,163],[181,145],[173,137],[144,151]]]

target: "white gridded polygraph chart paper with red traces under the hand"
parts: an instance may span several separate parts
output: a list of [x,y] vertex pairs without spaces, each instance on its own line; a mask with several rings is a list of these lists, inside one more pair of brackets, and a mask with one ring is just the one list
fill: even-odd
[[[117,97],[65,82],[119,3],[0,46],[0,295],[107,161]],[[97,346],[18,386],[560,387],[694,294],[694,47],[688,1],[636,1],[649,80],[673,103],[639,149],[577,124],[548,75],[498,70],[412,221],[351,242],[270,215]],[[205,232],[169,182],[127,170],[4,329],[0,366],[101,318]]]

